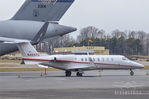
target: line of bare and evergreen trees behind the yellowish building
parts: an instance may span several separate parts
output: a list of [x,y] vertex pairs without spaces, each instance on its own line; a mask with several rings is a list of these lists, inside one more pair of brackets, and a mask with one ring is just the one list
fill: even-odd
[[[89,40],[93,42],[90,43]],[[94,26],[80,30],[77,38],[70,35],[49,41],[50,46],[78,47],[78,46],[104,46],[110,50],[110,54],[121,55],[149,55],[149,33],[144,31],[120,31],[114,30],[106,33]]]

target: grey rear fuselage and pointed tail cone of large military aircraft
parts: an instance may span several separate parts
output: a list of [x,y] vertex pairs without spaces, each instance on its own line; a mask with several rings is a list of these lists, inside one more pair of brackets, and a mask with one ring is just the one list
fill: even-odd
[[[44,23],[45,22],[41,21],[25,20],[0,21],[0,36],[32,40]],[[51,22],[48,26],[45,38],[62,36],[75,30],[76,28]],[[0,56],[16,50],[16,45],[0,43]]]

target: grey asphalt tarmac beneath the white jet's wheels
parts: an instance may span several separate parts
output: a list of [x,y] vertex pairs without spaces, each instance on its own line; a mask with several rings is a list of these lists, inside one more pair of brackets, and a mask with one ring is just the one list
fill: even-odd
[[0,99],[149,99],[149,70],[0,73]]

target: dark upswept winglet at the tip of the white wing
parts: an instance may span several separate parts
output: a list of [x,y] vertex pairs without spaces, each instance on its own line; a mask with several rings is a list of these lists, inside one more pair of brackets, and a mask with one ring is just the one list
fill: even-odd
[[44,39],[48,26],[49,26],[49,22],[45,22],[45,24],[41,27],[37,35],[32,40],[32,44],[40,43]]

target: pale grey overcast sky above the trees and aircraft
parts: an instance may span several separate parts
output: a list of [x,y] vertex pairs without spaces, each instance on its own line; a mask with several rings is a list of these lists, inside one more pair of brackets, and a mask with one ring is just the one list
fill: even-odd
[[[0,20],[9,19],[25,0],[0,0]],[[60,24],[95,26],[110,32],[143,30],[149,33],[149,0],[75,0]]]

